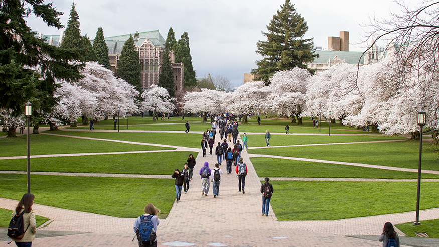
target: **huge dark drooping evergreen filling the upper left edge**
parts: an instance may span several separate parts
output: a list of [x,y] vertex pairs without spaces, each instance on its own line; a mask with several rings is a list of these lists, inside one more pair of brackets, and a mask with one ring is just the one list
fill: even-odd
[[[11,117],[24,113],[27,101],[33,104],[31,122],[52,109],[57,98],[55,79],[77,80],[81,64],[72,64],[77,51],[66,50],[36,38],[25,21],[29,14],[40,17],[49,27],[63,28],[58,12],[43,1],[2,0],[0,4],[0,109]],[[35,70],[33,68],[38,68]],[[37,119],[37,120],[35,120]],[[8,124],[8,136],[15,136],[16,123]]]

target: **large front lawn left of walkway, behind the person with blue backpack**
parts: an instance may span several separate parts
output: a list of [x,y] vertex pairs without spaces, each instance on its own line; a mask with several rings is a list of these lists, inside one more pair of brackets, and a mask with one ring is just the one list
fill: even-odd
[[[24,191],[26,175],[0,174],[2,197],[20,200]],[[32,175],[31,193],[36,204],[128,218],[141,215],[148,203],[165,218],[175,200],[173,179]]]

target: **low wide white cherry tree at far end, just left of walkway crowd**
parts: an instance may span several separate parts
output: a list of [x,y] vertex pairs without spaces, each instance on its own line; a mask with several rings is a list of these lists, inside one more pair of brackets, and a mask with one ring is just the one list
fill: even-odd
[[223,111],[222,99],[226,93],[223,91],[201,88],[201,92],[190,92],[184,97],[183,109],[185,112],[203,114],[203,122],[208,112]]

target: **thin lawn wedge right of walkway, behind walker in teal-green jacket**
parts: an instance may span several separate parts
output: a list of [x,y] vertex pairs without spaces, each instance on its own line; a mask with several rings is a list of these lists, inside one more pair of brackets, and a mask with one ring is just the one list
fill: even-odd
[[[244,133],[240,132],[241,138]],[[247,146],[265,147],[265,134],[247,135]],[[319,143],[350,143],[350,142],[373,142],[385,140],[407,140],[404,137],[392,137],[384,135],[365,136],[307,136],[307,135],[271,135],[270,146],[303,145]]]

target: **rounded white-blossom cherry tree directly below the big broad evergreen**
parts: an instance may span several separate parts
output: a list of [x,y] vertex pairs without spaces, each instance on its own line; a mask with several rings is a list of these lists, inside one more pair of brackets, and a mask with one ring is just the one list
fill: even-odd
[[[267,102],[270,102],[269,108],[283,115],[296,115],[298,125],[301,125],[301,114],[306,108],[306,92],[310,77],[308,70],[300,68],[276,72],[270,78],[271,94],[267,99]],[[291,122],[294,122],[294,117]]]

